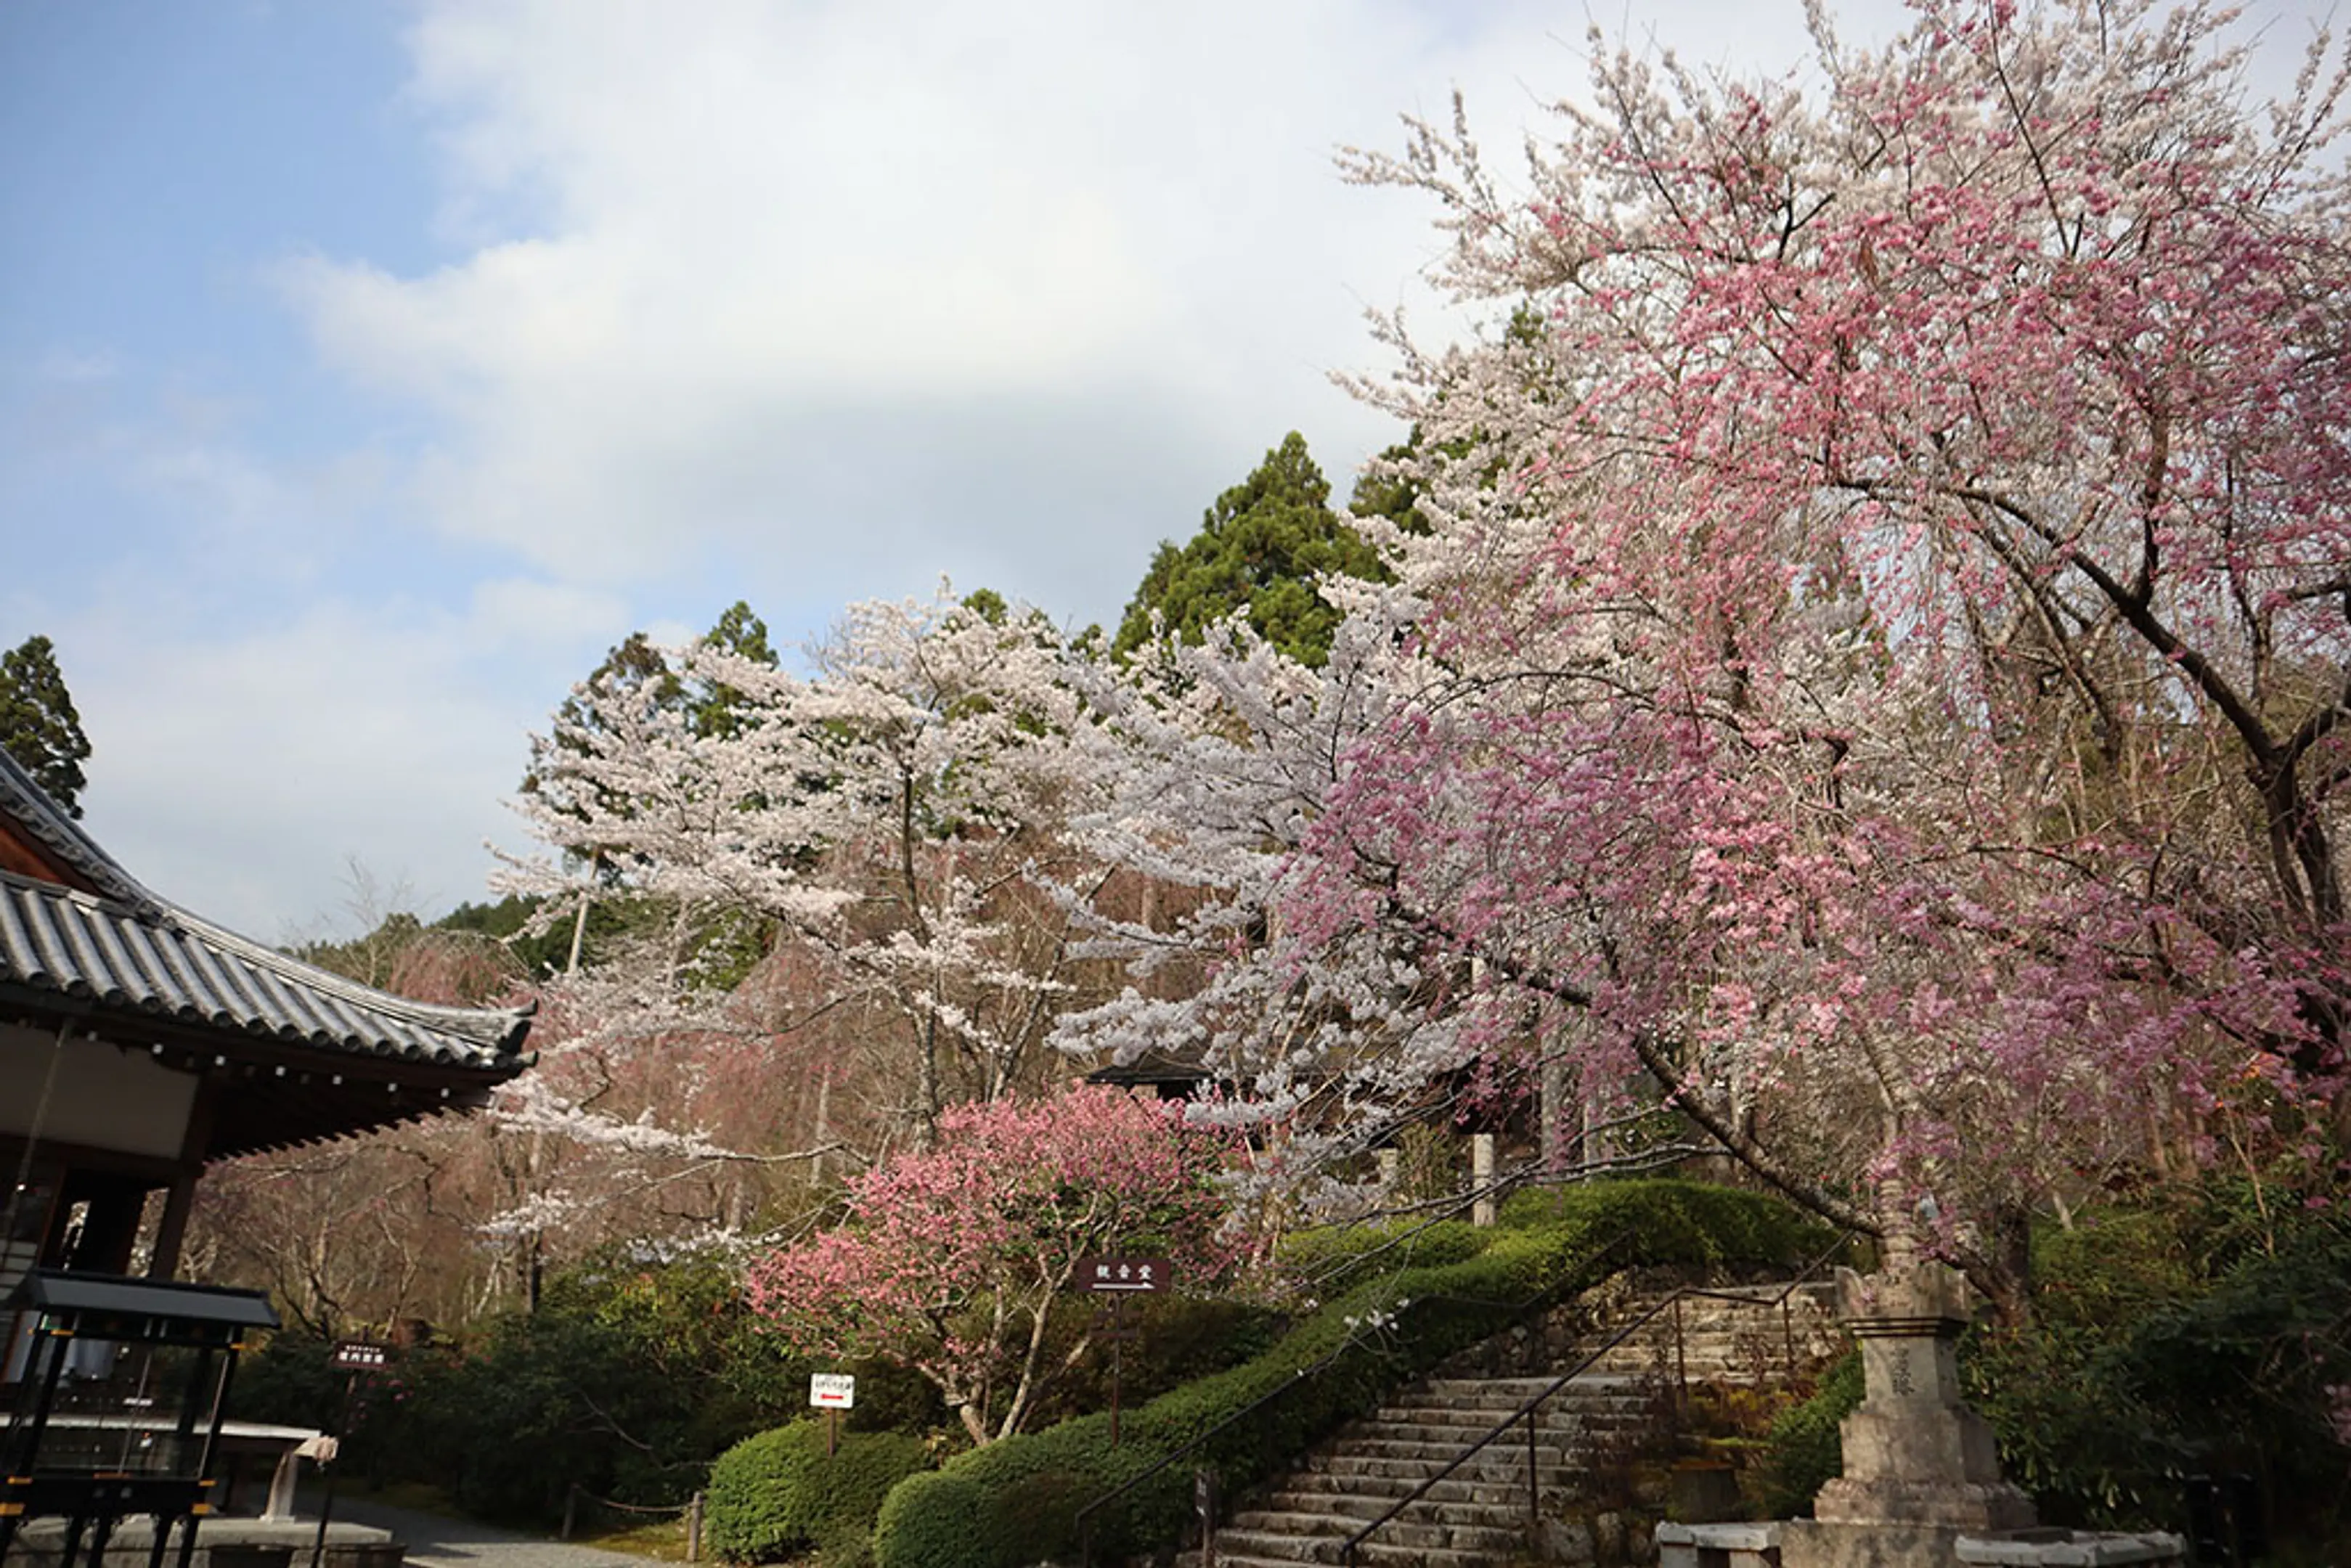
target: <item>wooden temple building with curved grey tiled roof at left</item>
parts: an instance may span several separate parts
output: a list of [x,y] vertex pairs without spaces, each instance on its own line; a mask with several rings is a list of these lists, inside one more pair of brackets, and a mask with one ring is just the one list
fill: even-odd
[[181,910],[0,752],[0,1300],[35,1265],[169,1279],[209,1161],[477,1107],[529,1027]]

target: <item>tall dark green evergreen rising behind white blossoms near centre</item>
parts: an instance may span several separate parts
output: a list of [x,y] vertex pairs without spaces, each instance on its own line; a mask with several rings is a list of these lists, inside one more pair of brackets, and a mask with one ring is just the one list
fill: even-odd
[[1291,430],[1255,473],[1215,498],[1187,545],[1159,545],[1112,649],[1133,654],[1150,642],[1154,611],[1161,632],[1185,642],[1246,611],[1277,649],[1321,665],[1340,621],[1314,590],[1326,571],[1387,581],[1380,557],[1331,510],[1331,482]]

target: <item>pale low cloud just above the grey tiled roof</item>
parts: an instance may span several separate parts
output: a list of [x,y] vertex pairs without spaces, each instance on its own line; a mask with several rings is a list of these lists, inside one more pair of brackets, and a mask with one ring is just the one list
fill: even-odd
[[595,635],[595,611],[498,583],[463,616],[322,599],[226,635],[68,621],[87,823],[134,877],[261,940],[348,931],[350,865],[426,917],[482,898],[482,839],[520,839],[501,802],[541,722],[498,665],[560,693],[571,672],[517,639]]

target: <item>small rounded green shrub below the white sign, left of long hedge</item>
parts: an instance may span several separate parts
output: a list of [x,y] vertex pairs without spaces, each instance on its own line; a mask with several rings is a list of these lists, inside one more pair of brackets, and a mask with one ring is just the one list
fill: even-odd
[[863,1535],[889,1490],[929,1465],[922,1439],[898,1432],[844,1432],[828,1455],[823,1422],[795,1420],[717,1458],[703,1540],[729,1563],[773,1563]]

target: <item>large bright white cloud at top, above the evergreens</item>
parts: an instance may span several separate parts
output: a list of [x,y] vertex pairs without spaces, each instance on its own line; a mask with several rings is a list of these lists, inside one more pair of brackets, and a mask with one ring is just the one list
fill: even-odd
[[1505,56],[1573,71],[1521,7],[1462,16],[428,5],[411,96],[477,244],[287,287],[336,367],[449,421],[416,482],[461,538],[600,583],[708,548],[844,597],[992,562],[1112,614],[1286,428],[1333,468],[1385,440],[1326,376],[1425,214],[1333,148]]

